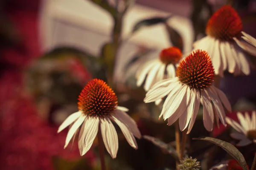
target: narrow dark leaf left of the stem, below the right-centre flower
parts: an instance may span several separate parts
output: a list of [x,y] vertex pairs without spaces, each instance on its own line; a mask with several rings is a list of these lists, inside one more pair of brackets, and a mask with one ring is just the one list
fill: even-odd
[[165,142],[161,141],[160,139],[154,138],[152,136],[144,135],[143,138],[152,142],[157,147],[160,147],[161,149],[165,150],[170,155],[172,155],[176,160],[179,160],[178,155],[177,155],[176,150],[174,149],[174,147],[172,147],[169,144],[166,144]]

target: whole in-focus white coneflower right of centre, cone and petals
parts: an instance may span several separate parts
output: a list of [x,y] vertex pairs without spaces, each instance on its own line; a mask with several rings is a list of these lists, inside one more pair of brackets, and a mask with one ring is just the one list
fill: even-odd
[[228,111],[231,111],[231,106],[225,94],[212,85],[215,75],[207,52],[196,50],[189,54],[180,62],[176,75],[157,82],[146,94],[144,102],[154,102],[167,95],[159,117],[168,119],[168,125],[179,118],[180,130],[188,127],[187,133],[195,123],[200,103],[204,107],[204,127],[208,131],[212,130],[214,116],[217,124],[219,117],[226,125],[222,103]]

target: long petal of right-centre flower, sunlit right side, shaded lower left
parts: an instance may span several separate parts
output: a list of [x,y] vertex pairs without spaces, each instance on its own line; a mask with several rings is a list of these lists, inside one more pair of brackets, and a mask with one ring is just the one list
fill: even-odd
[[184,111],[184,113],[179,118],[180,131],[185,130],[186,127],[189,125],[189,121],[193,113],[193,108],[195,105],[195,90],[190,90],[190,93],[190,104],[186,108],[186,111]]

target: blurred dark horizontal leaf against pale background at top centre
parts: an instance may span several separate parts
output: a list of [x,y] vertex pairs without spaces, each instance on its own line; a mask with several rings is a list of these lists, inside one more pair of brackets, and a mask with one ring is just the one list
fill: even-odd
[[153,26],[155,24],[165,23],[166,20],[168,20],[170,17],[171,15],[168,17],[154,17],[154,18],[141,20],[134,25],[132,33],[134,33],[135,31],[138,31],[140,28],[145,26]]

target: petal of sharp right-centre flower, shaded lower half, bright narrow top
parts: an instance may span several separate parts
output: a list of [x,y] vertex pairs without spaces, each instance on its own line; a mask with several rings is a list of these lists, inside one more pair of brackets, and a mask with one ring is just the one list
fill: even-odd
[[186,93],[180,102],[177,110],[168,118],[168,125],[172,125],[181,115],[186,114],[186,108],[190,105],[190,89],[186,88]]

